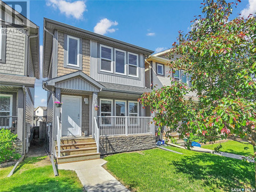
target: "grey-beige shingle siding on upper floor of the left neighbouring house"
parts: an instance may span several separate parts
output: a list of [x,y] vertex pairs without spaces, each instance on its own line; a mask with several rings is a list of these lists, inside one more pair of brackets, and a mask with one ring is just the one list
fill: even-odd
[[0,72],[24,75],[25,35],[16,28],[6,28],[6,62]]

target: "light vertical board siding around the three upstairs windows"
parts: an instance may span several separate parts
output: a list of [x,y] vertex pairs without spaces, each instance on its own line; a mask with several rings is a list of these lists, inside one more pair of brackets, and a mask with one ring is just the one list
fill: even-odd
[[[144,55],[139,55],[138,78],[130,78],[129,76],[115,76],[113,73],[98,73],[100,69],[100,54],[98,53],[98,43],[90,40],[90,77],[100,82],[110,82],[113,84],[130,85],[145,87],[144,77]],[[114,50],[114,49],[113,49]],[[126,51],[126,50],[123,50]],[[127,57],[127,56],[126,56]],[[114,70],[114,67],[113,67]],[[127,71],[127,70],[126,70]]]

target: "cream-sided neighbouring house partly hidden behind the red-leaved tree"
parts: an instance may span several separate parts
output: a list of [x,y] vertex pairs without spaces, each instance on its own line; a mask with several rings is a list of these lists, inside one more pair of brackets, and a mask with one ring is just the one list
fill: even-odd
[[[184,73],[184,70],[176,70],[175,73],[171,72],[171,68],[168,64],[170,61],[176,60],[179,56],[175,55],[172,60],[168,58],[168,52],[170,49],[165,51],[152,54],[145,59],[145,82],[148,89],[159,89],[163,86],[171,85],[171,81],[181,81],[191,86],[191,77]],[[185,98],[192,97],[197,101],[197,95],[195,92],[189,92],[185,95]]]

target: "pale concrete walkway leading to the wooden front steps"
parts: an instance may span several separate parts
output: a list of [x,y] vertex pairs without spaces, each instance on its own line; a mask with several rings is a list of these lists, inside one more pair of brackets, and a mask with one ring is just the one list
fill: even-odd
[[117,181],[102,165],[102,159],[59,164],[58,169],[75,170],[86,191],[129,191]]

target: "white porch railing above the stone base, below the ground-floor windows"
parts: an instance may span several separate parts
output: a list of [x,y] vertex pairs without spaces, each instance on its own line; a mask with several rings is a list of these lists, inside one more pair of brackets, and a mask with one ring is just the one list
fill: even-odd
[[99,136],[154,134],[151,122],[147,116],[98,116]]

